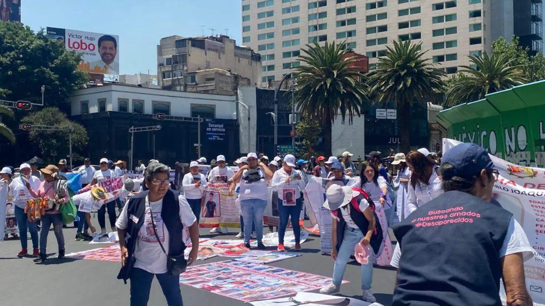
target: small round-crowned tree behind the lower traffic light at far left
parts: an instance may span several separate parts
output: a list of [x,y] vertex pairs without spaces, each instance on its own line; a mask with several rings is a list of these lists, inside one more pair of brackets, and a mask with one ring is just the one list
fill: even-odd
[[[87,131],[81,124],[66,119],[66,114],[56,107],[47,107],[39,112],[27,115],[22,123],[34,125],[56,126],[62,131],[32,130],[30,139],[38,146],[42,156],[66,156],[69,154],[69,129],[72,129],[72,150],[83,149],[89,138]],[[46,159],[46,158],[45,158]]]

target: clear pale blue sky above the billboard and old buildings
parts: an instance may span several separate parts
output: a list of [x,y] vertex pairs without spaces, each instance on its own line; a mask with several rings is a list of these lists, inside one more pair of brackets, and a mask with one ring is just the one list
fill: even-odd
[[240,0],[22,0],[21,21],[119,35],[120,74],[157,73],[157,45],[170,35],[225,34],[241,42]]

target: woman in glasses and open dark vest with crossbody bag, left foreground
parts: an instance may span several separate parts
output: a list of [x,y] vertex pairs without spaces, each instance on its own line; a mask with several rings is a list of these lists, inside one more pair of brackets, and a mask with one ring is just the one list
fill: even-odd
[[131,280],[131,306],[146,306],[155,276],[168,306],[182,305],[179,275],[169,273],[167,257],[184,254],[185,229],[189,228],[192,249],[187,259],[197,259],[199,231],[191,206],[183,195],[169,188],[169,170],[150,163],[144,170],[148,191],[134,195],[123,207],[116,222],[121,247],[122,270],[118,278]]

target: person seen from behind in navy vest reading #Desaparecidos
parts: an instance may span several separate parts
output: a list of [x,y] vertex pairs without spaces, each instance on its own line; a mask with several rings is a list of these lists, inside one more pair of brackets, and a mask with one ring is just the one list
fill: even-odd
[[532,305],[524,280],[533,250],[512,213],[490,203],[499,172],[481,146],[463,143],[439,168],[444,194],[394,225],[392,306]]

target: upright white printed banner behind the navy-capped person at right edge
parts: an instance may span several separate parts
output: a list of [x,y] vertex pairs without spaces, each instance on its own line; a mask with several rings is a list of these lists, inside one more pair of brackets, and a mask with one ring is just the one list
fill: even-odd
[[[443,152],[458,144],[461,142],[444,138]],[[489,156],[500,172],[493,199],[513,214],[534,248],[534,258],[524,262],[526,289],[534,303],[545,304],[545,169],[522,167]],[[505,293],[501,293],[505,301]]]

